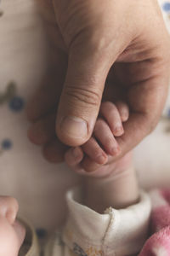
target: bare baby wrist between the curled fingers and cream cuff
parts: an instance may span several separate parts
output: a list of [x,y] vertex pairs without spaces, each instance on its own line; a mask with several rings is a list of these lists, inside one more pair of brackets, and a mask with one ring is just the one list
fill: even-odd
[[[106,176],[104,168],[109,172]],[[98,173],[103,175],[99,177]],[[100,166],[95,175],[91,173],[84,180],[84,203],[96,212],[103,213],[108,207],[129,207],[138,201],[139,185],[131,153],[114,163]]]

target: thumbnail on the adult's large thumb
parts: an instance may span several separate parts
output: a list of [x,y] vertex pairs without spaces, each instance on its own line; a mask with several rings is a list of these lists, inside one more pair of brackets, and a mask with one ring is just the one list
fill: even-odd
[[65,117],[60,124],[60,128],[62,132],[70,137],[81,138],[88,135],[87,122],[75,116]]

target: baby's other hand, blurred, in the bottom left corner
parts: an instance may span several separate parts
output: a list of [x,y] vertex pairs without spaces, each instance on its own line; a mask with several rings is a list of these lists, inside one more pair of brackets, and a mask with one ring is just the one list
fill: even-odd
[[25,228],[16,220],[18,202],[9,196],[0,196],[0,255],[18,256],[26,236]]

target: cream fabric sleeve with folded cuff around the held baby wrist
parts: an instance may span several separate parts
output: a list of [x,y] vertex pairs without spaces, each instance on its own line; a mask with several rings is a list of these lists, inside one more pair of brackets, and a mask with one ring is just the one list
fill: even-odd
[[69,215],[64,228],[48,241],[45,256],[136,255],[148,236],[150,198],[141,191],[139,202],[104,214],[82,204],[80,188],[68,191]]

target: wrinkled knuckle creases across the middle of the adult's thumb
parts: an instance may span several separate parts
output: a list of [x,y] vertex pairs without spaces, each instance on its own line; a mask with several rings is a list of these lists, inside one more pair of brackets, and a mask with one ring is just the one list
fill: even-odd
[[70,101],[81,102],[82,104],[88,104],[89,106],[99,106],[101,101],[101,96],[99,93],[95,92],[94,90],[88,90],[84,88],[77,88],[73,86],[67,87],[65,91],[66,96],[70,98]]

